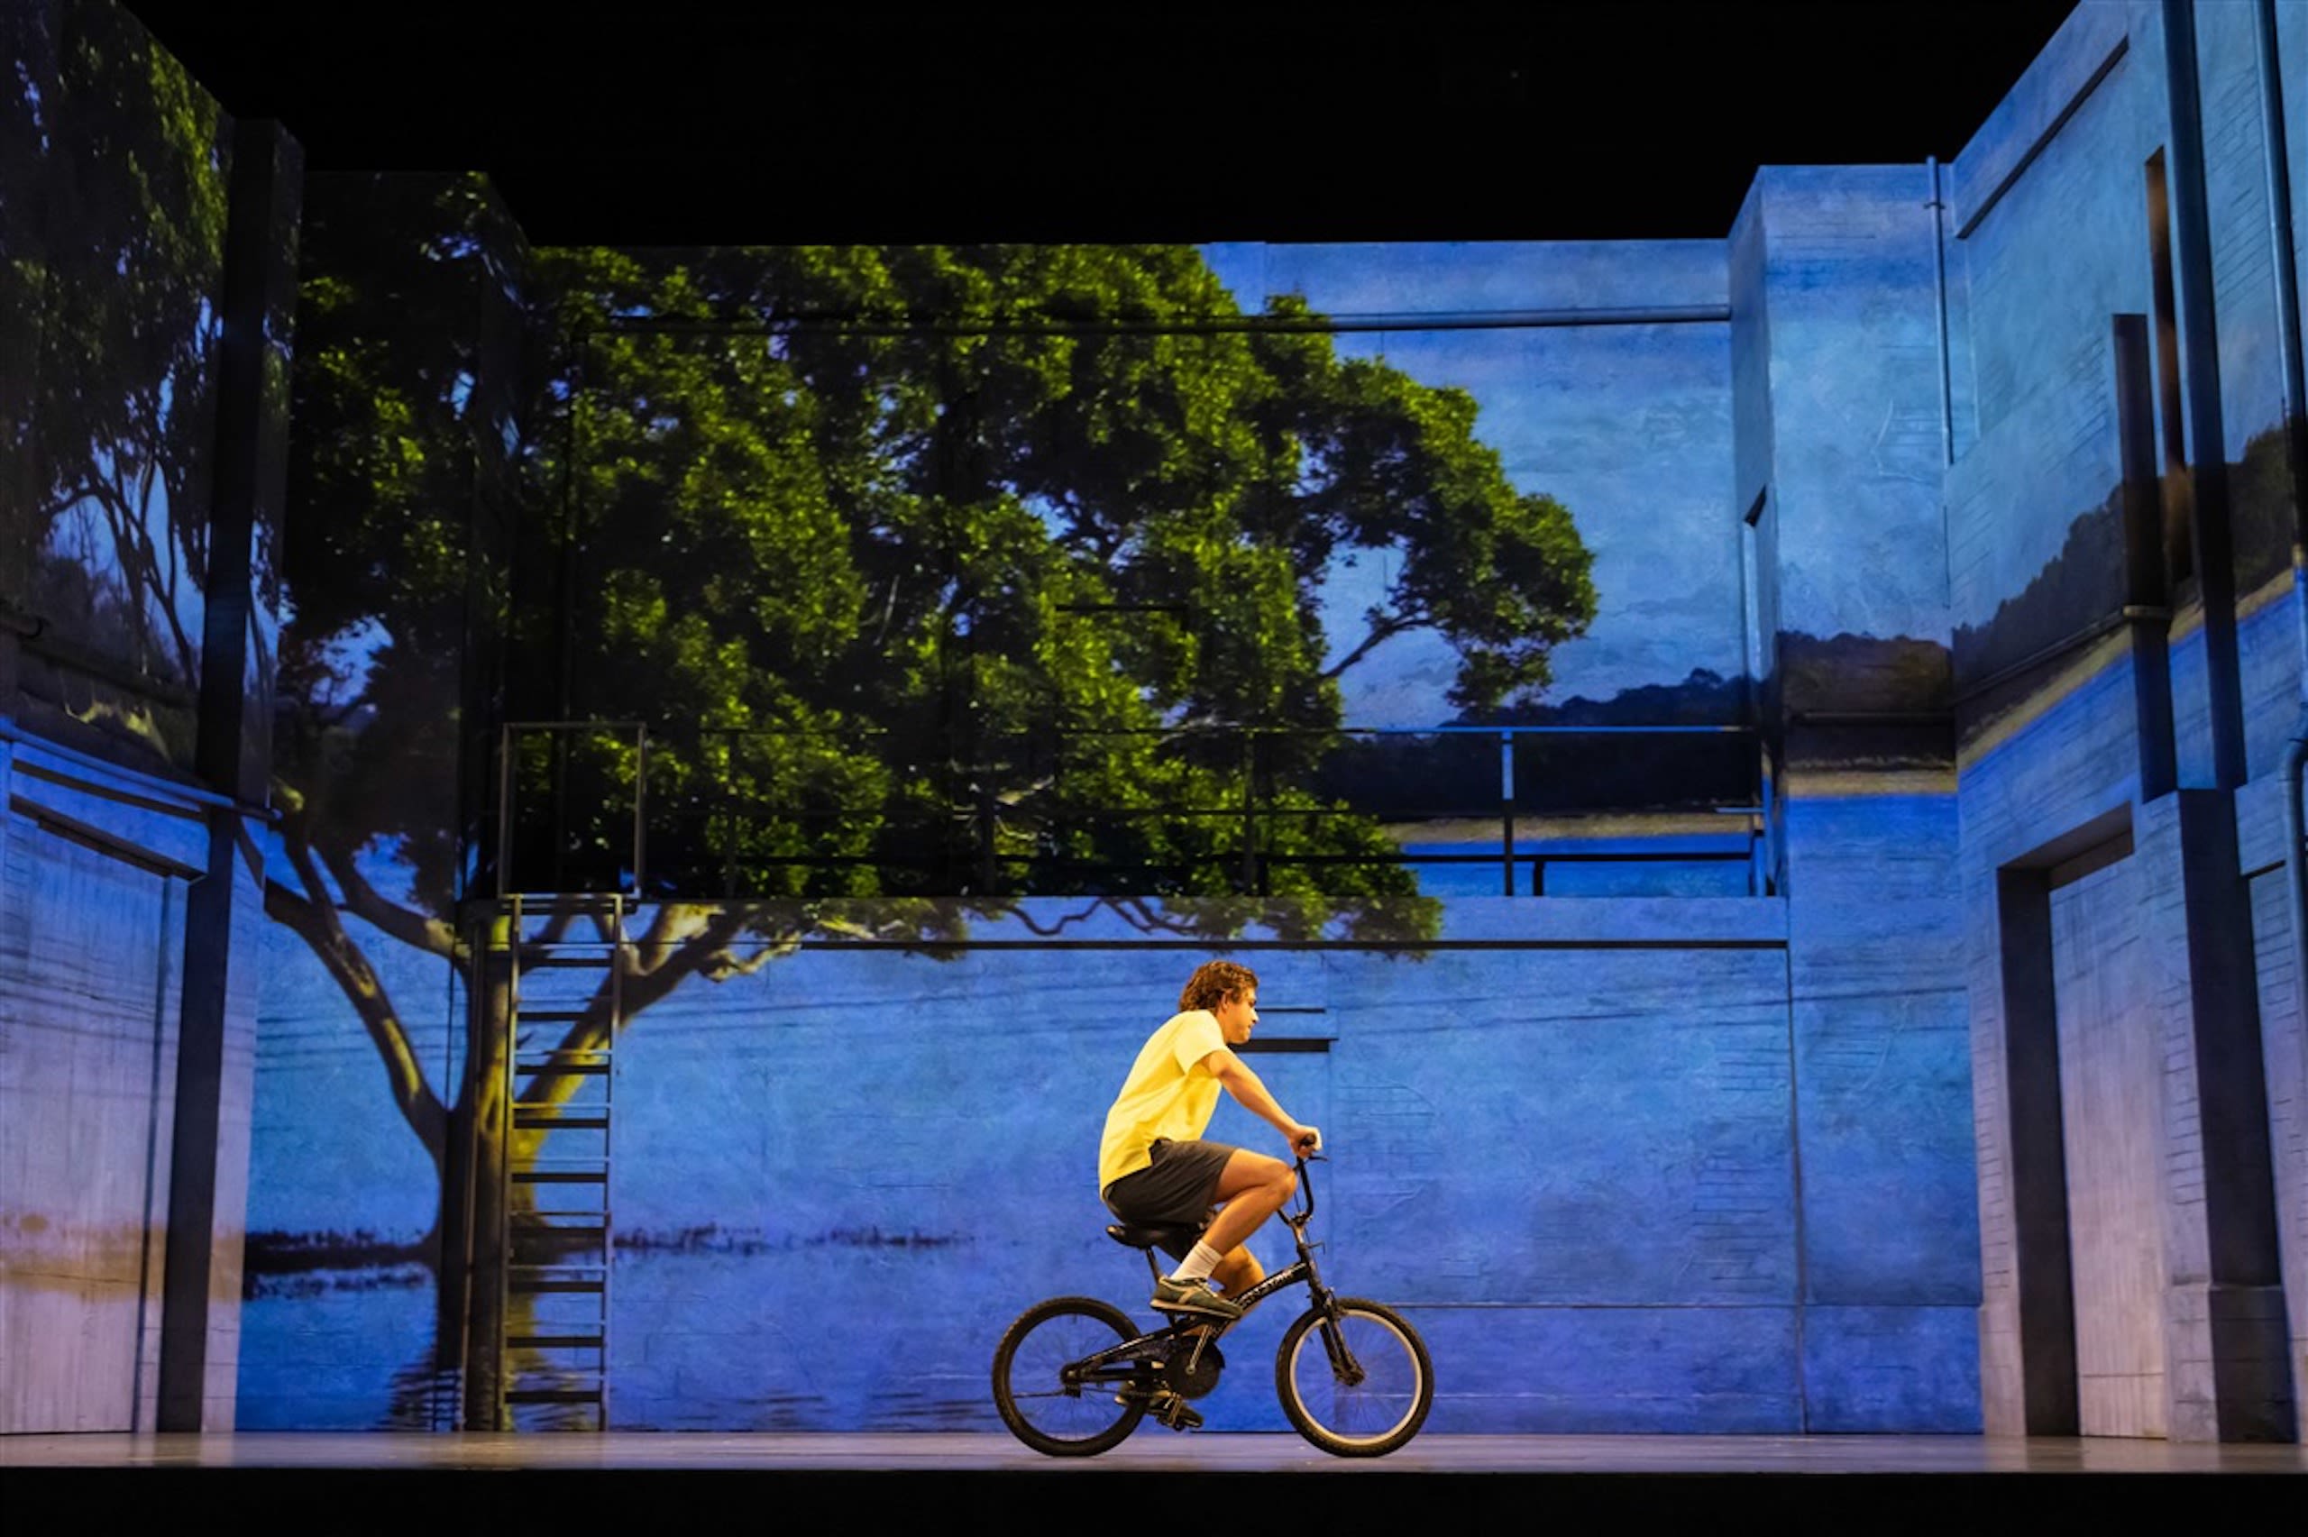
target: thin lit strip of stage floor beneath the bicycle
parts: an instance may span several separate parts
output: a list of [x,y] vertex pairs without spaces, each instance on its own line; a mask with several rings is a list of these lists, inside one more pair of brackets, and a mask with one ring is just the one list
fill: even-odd
[[1297,1435],[1177,1435],[1142,1429],[1106,1456],[1050,1459],[1009,1435],[0,1435],[0,1468],[429,1468],[762,1472],[2308,1472],[2308,1449],[2167,1440],[1985,1435],[1419,1435],[1355,1461]]

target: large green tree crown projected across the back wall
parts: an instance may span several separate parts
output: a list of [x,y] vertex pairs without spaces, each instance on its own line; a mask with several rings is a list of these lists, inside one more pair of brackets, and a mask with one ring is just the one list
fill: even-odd
[[[496,526],[475,496],[522,503],[505,708],[651,732],[646,771],[616,732],[559,759],[535,738],[524,787],[559,801],[519,822],[510,872],[616,877],[646,778],[655,902],[628,1020],[810,937],[930,946],[995,914],[1436,932],[1380,826],[1316,789],[1339,676],[1429,628],[1463,658],[1456,702],[1533,695],[1595,602],[1569,512],[1505,480],[1470,397],[1341,360],[1299,305],[1244,321],[1184,247],[524,258],[471,182],[427,210],[404,194],[337,198],[365,224],[307,231],[279,732],[295,877],[270,905],[436,1154],[443,1110],[339,914],[480,976],[443,789],[473,697],[457,658],[499,600],[473,582],[494,561],[473,531]],[[510,408],[515,369],[473,316],[510,307],[522,261],[535,325]],[[1329,655],[1322,577],[1373,549],[1401,575]],[[404,893],[365,877],[376,845]],[[702,900],[725,882],[743,900]],[[595,999],[565,1045],[612,1027]]]

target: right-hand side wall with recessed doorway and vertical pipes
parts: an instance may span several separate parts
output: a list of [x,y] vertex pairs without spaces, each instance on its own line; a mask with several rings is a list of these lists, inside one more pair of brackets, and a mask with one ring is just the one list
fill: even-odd
[[[1992,1431],[2296,1433],[2301,1015],[2269,953],[2290,944],[2278,840],[2236,838],[2239,817],[2273,815],[2301,683],[2255,9],[2077,7],[1948,178]],[[2287,37],[2294,12],[2278,7]],[[2287,48],[2290,99],[2301,72]],[[2170,210],[2149,198],[2151,157]],[[2172,579],[2126,556],[2116,314],[2146,316],[2170,381],[2140,432]]]

